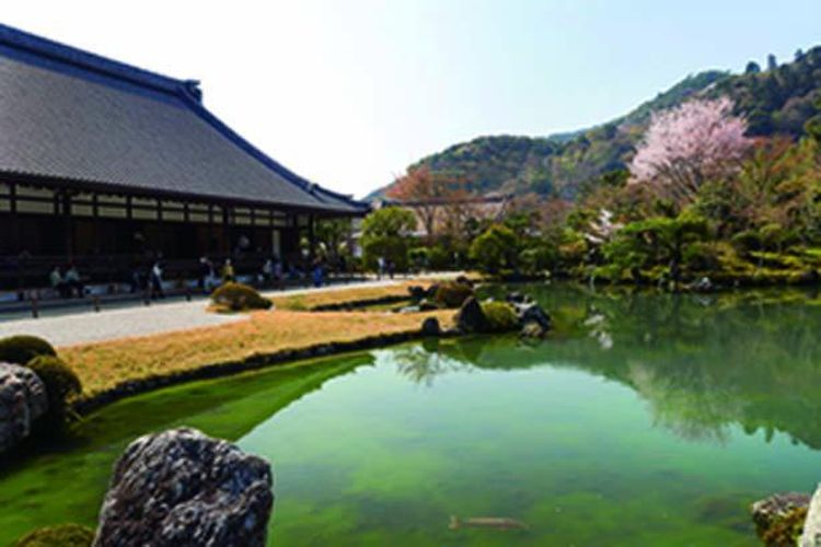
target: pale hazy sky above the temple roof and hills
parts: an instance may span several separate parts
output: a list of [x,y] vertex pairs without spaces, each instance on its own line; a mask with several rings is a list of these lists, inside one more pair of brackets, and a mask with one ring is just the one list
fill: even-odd
[[176,78],[361,196],[481,135],[624,114],[684,75],[821,45],[821,0],[3,0],[2,22]]

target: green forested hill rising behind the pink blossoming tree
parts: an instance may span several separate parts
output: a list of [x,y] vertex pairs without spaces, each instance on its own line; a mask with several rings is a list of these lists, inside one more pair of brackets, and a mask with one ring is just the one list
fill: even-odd
[[[707,71],[690,75],[656,98],[615,120],[576,133],[551,137],[479,137],[429,155],[410,167],[460,175],[475,193],[536,193],[573,199],[586,184],[626,166],[650,114],[693,96],[727,94],[750,121],[750,133],[798,137],[821,94],[821,47],[798,51],[762,69],[750,62],[743,74]],[[369,197],[383,195],[390,186]]]

